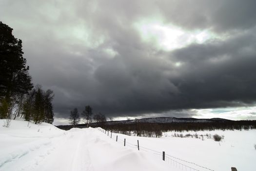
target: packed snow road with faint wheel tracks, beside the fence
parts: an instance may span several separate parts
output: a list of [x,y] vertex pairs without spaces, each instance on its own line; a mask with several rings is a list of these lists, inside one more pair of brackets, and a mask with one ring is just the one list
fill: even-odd
[[68,132],[55,143],[36,171],[94,171],[88,148],[90,130]]

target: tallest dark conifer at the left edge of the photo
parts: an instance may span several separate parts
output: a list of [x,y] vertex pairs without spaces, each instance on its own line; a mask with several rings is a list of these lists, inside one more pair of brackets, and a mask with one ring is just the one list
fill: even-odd
[[[17,97],[32,89],[22,42],[12,35],[12,28],[0,21],[0,117],[6,118],[17,104]],[[7,112],[7,113],[3,113]]]

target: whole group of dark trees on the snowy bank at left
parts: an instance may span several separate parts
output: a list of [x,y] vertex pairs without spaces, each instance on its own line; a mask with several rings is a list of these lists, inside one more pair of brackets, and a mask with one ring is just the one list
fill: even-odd
[[0,21],[0,119],[6,119],[6,127],[16,117],[52,124],[53,91],[44,91],[40,85],[33,88],[22,41],[12,35],[12,30]]

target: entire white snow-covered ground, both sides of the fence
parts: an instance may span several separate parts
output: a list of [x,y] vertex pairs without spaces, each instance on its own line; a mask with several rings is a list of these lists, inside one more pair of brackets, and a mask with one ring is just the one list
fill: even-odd
[[[221,142],[173,137],[174,133],[166,132],[161,138],[113,133],[111,138],[110,132],[105,134],[100,128],[64,131],[49,124],[28,125],[15,120],[10,128],[0,127],[0,171],[231,171],[231,167],[254,171],[256,168],[256,130],[197,131],[198,135],[223,135]],[[166,153],[165,161],[162,151]]]

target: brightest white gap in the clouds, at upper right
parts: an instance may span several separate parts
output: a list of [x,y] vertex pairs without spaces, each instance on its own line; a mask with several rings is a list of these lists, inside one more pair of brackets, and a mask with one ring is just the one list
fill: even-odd
[[187,31],[172,24],[160,22],[137,22],[135,28],[144,42],[155,43],[163,50],[185,47],[191,43],[204,43],[217,38],[208,30]]

